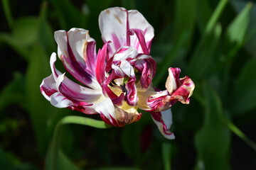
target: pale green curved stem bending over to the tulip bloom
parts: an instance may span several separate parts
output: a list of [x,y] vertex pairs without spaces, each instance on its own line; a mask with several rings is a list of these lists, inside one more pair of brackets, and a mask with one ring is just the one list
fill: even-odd
[[93,128],[106,129],[111,128],[112,126],[107,125],[101,120],[94,120],[91,118],[85,118],[82,116],[76,115],[68,115],[62,118],[56,125],[54,133],[53,133],[53,142],[48,151],[47,159],[46,159],[46,169],[47,170],[55,170],[57,169],[58,162],[58,152],[60,147],[60,137],[62,132],[63,125],[67,124],[78,124],[78,125],[87,125]]

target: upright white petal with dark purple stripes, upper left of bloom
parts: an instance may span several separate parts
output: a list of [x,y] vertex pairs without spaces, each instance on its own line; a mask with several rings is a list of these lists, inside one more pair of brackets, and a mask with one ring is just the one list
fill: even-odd
[[58,43],[58,57],[63,61],[65,69],[78,81],[93,89],[100,88],[95,79],[95,40],[90,38],[87,30],[72,28],[68,32],[55,32]]

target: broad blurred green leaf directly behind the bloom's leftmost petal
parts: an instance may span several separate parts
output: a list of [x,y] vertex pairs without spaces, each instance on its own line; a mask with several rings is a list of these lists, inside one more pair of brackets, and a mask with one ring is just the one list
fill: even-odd
[[48,137],[46,136],[48,118],[58,110],[50,105],[39,90],[41,81],[49,75],[50,67],[48,57],[46,57],[41,45],[36,43],[31,51],[31,57],[26,71],[26,108],[31,116],[41,154],[45,154],[48,145]]

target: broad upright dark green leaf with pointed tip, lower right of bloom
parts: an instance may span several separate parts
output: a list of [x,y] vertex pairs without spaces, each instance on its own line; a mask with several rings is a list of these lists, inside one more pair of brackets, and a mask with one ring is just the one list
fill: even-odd
[[198,154],[196,169],[230,169],[228,150],[230,130],[225,125],[223,108],[218,94],[209,86],[204,86],[206,111],[204,125],[196,134],[195,144]]

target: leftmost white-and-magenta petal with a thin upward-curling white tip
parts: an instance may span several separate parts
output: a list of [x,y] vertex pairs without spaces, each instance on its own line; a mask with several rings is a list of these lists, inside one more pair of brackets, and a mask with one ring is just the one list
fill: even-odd
[[[52,74],[43,79],[41,93],[50,103],[58,108],[70,108],[82,113],[95,113],[95,105],[103,100],[102,91],[89,89],[65,77],[55,69],[56,55],[50,57]],[[93,103],[93,104],[92,104]]]

